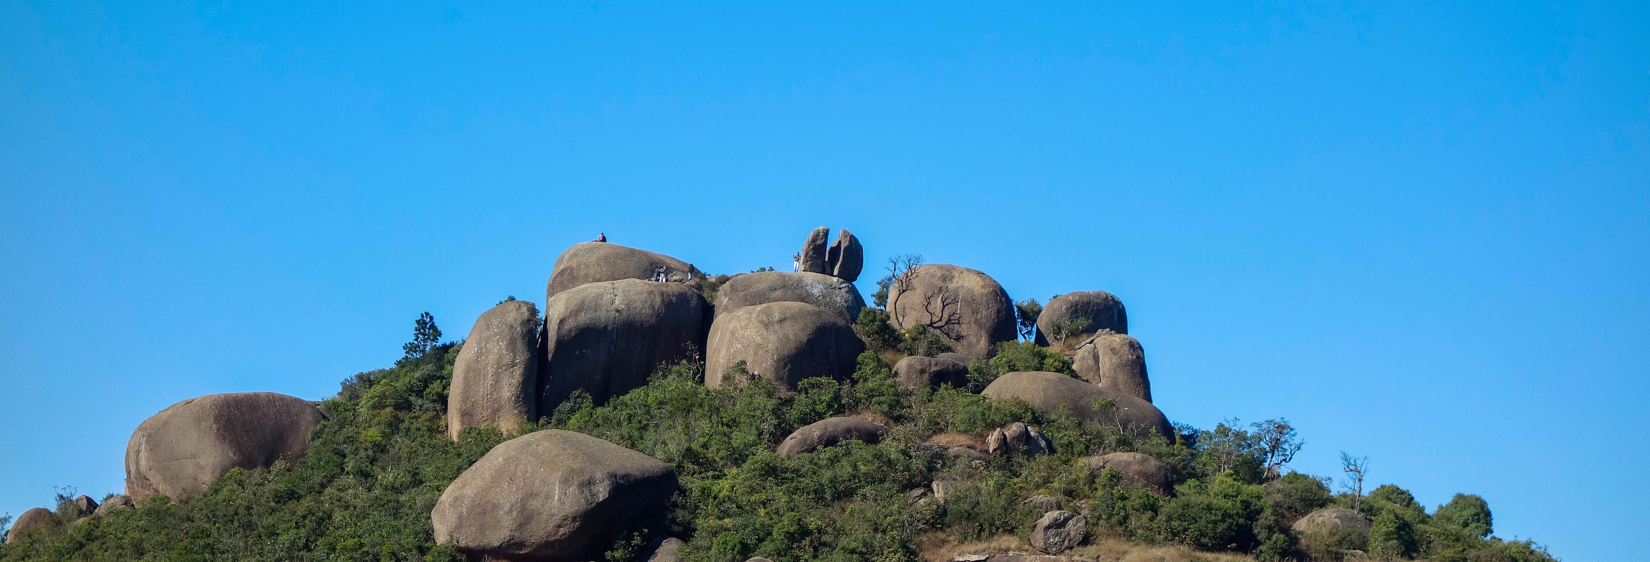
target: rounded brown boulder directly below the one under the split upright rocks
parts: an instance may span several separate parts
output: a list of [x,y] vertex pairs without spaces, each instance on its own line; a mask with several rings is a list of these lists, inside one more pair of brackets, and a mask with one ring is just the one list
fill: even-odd
[[795,389],[807,377],[843,377],[865,341],[840,316],[818,307],[777,302],[718,315],[705,354],[705,384],[744,361],[752,374]]

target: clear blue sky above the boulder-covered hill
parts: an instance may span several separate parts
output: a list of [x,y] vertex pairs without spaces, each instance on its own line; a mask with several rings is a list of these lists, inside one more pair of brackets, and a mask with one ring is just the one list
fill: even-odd
[[596,232],[741,272],[827,224],[1117,293],[1172,420],[1643,554],[1645,3],[673,5],[0,2],[0,513]]

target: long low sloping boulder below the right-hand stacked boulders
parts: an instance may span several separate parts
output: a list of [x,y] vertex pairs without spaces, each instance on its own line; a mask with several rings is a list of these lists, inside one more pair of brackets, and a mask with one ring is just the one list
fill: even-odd
[[[1117,424],[1125,430],[1134,430],[1140,438],[1150,435],[1152,430],[1170,438],[1175,435],[1173,425],[1168,425],[1168,419],[1152,402],[1059,372],[1010,372],[992,381],[980,394],[993,400],[1025,400],[1048,412],[1059,409],[1061,404],[1069,404],[1071,412],[1081,420]],[[1097,399],[1112,400],[1112,405],[1096,409]]]

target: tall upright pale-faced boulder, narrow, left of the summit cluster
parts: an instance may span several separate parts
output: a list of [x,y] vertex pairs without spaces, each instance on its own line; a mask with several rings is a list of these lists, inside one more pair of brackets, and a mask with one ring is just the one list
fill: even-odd
[[515,432],[538,420],[538,307],[512,300],[475,320],[452,364],[447,437],[465,427]]

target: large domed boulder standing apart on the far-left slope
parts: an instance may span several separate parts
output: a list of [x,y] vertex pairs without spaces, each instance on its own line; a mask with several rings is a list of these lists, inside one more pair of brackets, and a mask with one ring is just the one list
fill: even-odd
[[309,452],[320,424],[314,402],[276,394],[208,394],[168,405],[137,425],[125,445],[125,493],[183,499],[229,468],[262,468]]

